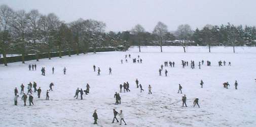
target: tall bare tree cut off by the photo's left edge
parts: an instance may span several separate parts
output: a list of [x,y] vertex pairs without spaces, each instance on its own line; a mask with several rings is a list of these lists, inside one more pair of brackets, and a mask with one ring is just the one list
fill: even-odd
[[7,5],[0,6],[0,51],[3,53],[4,64],[7,66],[7,50],[10,48],[10,26],[13,16],[13,10]]

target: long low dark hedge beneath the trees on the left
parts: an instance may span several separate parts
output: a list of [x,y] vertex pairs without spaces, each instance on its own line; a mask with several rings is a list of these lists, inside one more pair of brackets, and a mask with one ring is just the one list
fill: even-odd
[[[125,49],[124,47],[102,47],[102,48],[89,48],[88,53],[91,52],[109,52],[109,51],[125,51],[127,49]],[[79,54],[81,54],[83,52],[79,52]],[[51,52],[51,57],[59,57],[59,52]],[[77,52],[75,51],[70,51],[70,55],[74,55],[77,54]],[[68,51],[62,51],[61,52],[62,56],[67,56],[68,55]],[[35,60],[36,59],[36,55],[26,55],[25,57],[25,61],[28,60]],[[39,54],[39,58],[43,59],[43,58],[48,58],[48,53],[41,53]],[[7,62],[8,63],[13,63],[13,62],[19,62],[22,61],[21,56],[14,56],[14,57],[7,57]],[[0,64],[4,64],[4,58],[0,58]]]

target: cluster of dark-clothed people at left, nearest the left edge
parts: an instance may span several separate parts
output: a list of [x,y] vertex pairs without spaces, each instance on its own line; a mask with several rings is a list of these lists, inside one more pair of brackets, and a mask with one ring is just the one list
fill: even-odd
[[[47,90],[47,92],[46,92],[46,100],[49,100],[49,91],[53,91],[53,90],[52,90],[52,87],[53,87],[53,86],[54,86],[54,84],[53,84],[53,82],[51,82],[51,83],[50,83],[50,86],[49,86],[50,89]],[[22,83],[21,86],[20,86],[20,88],[21,88],[20,94],[23,94],[23,96],[22,96],[21,99],[24,101],[24,106],[26,106],[27,95],[29,96],[29,97],[28,97],[29,106],[31,106],[31,104],[34,105],[34,103],[33,103],[33,96],[32,96],[32,93],[33,93],[32,87],[34,88],[34,93],[35,93],[35,92],[38,92],[38,98],[40,98],[40,96],[41,96],[41,92],[42,92],[41,87],[39,87],[39,88],[37,89],[37,88],[36,88],[36,87],[37,87],[37,84],[36,84],[35,81],[33,82],[33,84],[32,84],[31,82],[29,82],[29,83],[27,84],[27,94],[24,93],[24,87],[25,87],[25,86],[24,86],[24,84]],[[28,93],[30,93],[30,94],[28,94]],[[14,95],[15,95],[15,97],[14,97],[14,105],[17,105],[17,104],[18,104],[18,97],[19,97],[19,95],[18,95],[18,89],[17,89],[17,88],[14,89]]]

